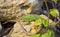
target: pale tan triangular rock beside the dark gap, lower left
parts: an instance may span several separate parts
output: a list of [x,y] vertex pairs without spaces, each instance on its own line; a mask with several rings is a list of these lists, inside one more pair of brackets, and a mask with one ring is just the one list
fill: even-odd
[[14,30],[10,37],[29,37],[24,31],[21,29],[20,24],[16,23],[14,25]]

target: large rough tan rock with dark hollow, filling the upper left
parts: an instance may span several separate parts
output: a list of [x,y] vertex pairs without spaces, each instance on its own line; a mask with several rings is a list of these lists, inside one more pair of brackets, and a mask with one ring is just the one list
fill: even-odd
[[0,20],[41,12],[43,0],[0,0]]

